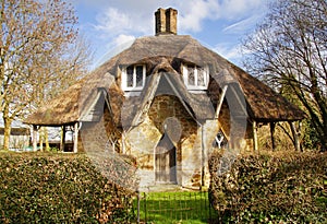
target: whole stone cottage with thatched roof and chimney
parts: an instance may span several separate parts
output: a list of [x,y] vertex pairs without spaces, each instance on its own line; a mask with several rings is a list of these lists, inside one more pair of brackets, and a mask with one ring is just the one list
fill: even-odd
[[137,38],[25,122],[35,132],[71,127],[74,152],[135,156],[143,185],[194,187],[206,184],[213,149],[257,149],[258,123],[303,118],[256,78],[178,35],[177,14],[158,9],[155,36]]

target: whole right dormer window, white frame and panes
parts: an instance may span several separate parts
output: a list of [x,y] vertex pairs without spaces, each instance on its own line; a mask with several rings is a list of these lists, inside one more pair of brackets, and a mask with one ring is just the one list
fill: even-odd
[[187,90],[207,90],[209,72],[207,67],[183,64],[183,79]]

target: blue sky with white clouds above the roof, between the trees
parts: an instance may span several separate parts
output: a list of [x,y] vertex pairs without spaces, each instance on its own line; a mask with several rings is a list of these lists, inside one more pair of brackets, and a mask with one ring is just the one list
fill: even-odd
[[[241,66],[240,39],[259,22],[268,0],[69,0],[95,51],[93,67],[140,36],[155,35],[158,8],[178,10],[178,34],[191,35]],[[123,45],[126,46],[126,45]]]

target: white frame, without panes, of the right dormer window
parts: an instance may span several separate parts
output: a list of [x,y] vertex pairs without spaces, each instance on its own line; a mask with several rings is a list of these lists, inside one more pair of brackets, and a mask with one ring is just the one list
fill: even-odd
[[[194,85],[189,84],[189,67],[193,67],[194,69]],[[203,71],[205,71],[204,74],[204,85],[198,85],[197,84],[197,74],[198,74],[198,69],[197,68],[202,68],[204,69]],[[184,83],[187,87],[187,90],[190,91],[203,91],[203,90],[207,90],[208,89],[208,83],[209,83],[209,69],[208,67],[198,67],[196,64],[182,64],[182,72],[183,72],[183,80]]]

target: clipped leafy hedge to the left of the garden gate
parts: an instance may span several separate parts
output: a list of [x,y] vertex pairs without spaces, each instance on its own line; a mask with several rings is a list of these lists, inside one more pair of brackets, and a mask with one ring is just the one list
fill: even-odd
[[[118,172],[121,160],[100,162],[135,184],[133,169]],[[98,165],[83,154],[0,153],[0,223],[129,223],[134,192]]]

